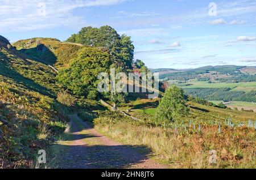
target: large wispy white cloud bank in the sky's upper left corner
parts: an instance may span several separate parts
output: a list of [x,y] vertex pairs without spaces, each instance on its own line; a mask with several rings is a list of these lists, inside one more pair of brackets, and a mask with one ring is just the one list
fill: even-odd
[[0,0],[0,32],[30,31],[55,27],[76,27],[86,19],[72,12],[76,8],[110,6],[129,0],[44,0],[46,16],[40,16],[38,0]]

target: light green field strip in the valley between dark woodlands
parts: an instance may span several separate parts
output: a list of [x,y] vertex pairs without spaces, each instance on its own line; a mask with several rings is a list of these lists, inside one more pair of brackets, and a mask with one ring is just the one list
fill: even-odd
[[247,83],[208,83],[208,82],[189,82],[193,85],[183,86],[182,88],[231,88],[232,91],[255,91],[256,82]]

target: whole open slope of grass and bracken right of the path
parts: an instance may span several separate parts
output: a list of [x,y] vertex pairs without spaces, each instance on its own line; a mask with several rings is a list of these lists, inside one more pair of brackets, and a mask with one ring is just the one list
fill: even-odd
[[[102,134],[119,142],[147,147],[155,160],[170,168],[255,167],[256,131],[254,127],[247,127],[248,119],[256,118],[255,113],[188,102],[191,111],[188,117],[176,119],[174,125],[161,127],[154,125],[157,104],[155,100],[130,102],[127,107],[131,108],[130,114],[142,121],[122,115],[117,117],[116,113],[102,113],[94,119],[94,125]],[[234,127],[227,125],[229,117],[232,117]],[[217,164],[209,164],[212,149],[217,153]]]

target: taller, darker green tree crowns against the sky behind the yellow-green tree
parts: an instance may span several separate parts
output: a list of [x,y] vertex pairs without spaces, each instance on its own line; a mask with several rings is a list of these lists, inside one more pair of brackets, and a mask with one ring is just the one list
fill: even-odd
[[84,27],[79,33],[69,37],[67,41],[106,48],[122,61],[126,68],[132,68],[134,45],[131,37],[118,35],[117,31],[108,25],[100,28]]

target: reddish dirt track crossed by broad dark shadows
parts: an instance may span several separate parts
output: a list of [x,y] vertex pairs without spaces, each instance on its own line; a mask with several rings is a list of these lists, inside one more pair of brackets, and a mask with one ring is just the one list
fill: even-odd
[[71,130],[68,138],[59,147],[62,152],[58,168],[166,168],[148,158],[148,155],[138,152],[137,148],[141,147],[122,145],[101,135],[76,114],[70,115],[70,118]]

